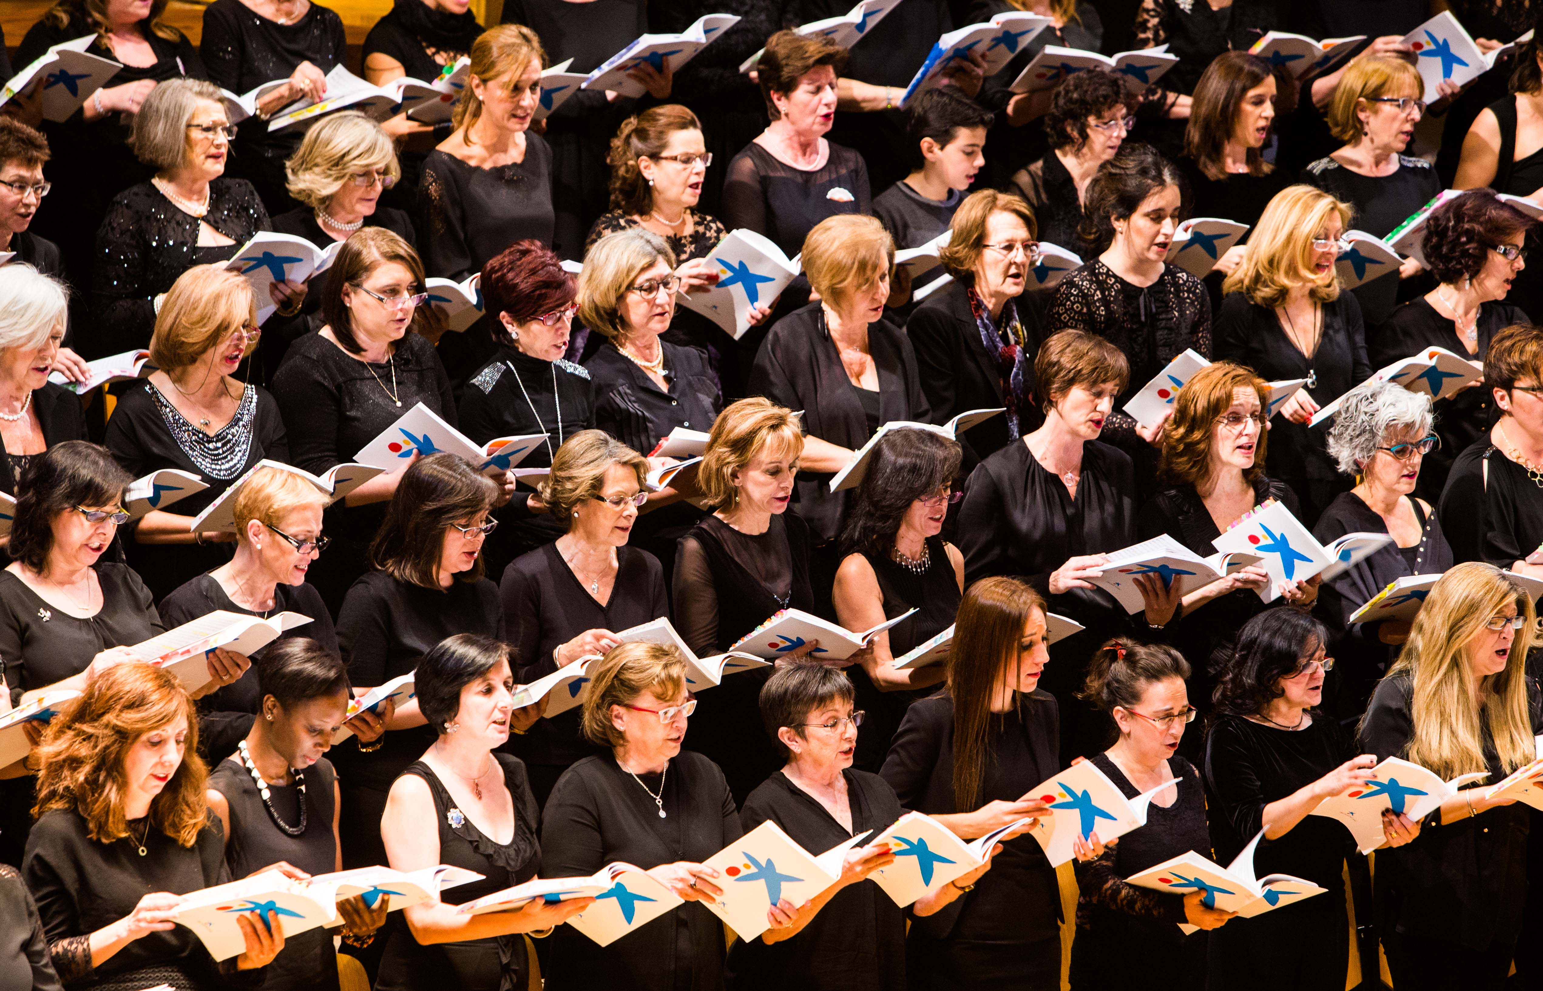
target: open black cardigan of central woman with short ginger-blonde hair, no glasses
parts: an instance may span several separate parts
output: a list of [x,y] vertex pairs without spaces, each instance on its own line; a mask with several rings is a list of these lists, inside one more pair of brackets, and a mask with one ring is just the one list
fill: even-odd
[[[904,331],[884,319],[869,324],[869,350],[878,370],[880,424],[892,419],[932,421],[921,391],[917,353]],[[804,433],[853,450],[869,439],[867,416],[836,345],[821,304],[813,302],[776,322],[756,354],[748,393],[804,412]],[[813,532],[815,544],[833,539],[847,516],[847,492],[830,492],[832,475],[801,472],[793,501]]]

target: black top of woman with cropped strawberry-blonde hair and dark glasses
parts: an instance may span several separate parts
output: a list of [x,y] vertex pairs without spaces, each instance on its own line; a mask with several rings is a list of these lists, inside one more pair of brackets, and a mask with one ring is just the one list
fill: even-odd
[[[216,609],[227,612],[242,612],[248,616],[259,613],[238,606],[225,595],[225,589],[213,575],[199,575],[160,603],[160,618],[168,627],[191,623],[199,616],[207,616]],[[262,615],[281,612],[298,612],[310,616],[310,623],[279,633],[285,637],[304,637],[315,640],[329,653],[338,653],[338,630],[332,624],[332,613],[327,612],[321,593],[309,584],[273,586],[273,609]],[[252,660],[262,657],[267,647],[256,650]],[[204,760],[218,764],[222,758],[236,752],[236,744],[252,732],[252,721],[262,707],[262,683],[258,678],[256,666],[248,667],[244,675],[233,683],[221,686],[198,700],[198,749]],[[259,865],[261,866],[261,865]],[[245,877],[245,875],[242,875]]]

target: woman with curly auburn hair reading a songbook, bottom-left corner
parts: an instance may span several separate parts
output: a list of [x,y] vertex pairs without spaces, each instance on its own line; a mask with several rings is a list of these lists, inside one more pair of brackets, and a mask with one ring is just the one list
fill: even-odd
[[174,922],[182,895],[230,880],[196,744],[176,675],[142,663],[100,672],[49,724],[25,877],[65,985],[225,991],[284,949],[275,911],[242,912],[245,949],[219,963]]

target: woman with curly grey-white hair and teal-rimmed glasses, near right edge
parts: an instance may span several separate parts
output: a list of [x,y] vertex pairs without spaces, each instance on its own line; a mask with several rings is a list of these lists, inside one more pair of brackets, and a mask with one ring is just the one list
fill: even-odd
[[1350,623],[1350,615],[1396,578],[1440,575],[1452,567],[1441,522],[1413,495],[1424,456],[1441,441],[1432,432],[1430,396],[1396,382],[1350,391],[1329,432],[1329,455],[1356,479],[1319,516],[1313,535],[1324,544],[1345,533],[1387,533],[1392,544],[1325,581],[1319,618],[1329,626],[1339,661],[1335,709],[1350,718],[1366,709],[1378,678],[1396,660],[1409,623]]

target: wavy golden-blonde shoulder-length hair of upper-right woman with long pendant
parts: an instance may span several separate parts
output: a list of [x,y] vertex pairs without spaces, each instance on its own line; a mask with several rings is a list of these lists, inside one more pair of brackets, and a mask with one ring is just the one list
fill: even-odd
[[1222,293],[1242,293],[1261,307],[1279,307],[1291,287],[1312,284],[1308,296],[1318,302],[1339,297],[1339,274],[1327,284],[1313,273],[1313,239],[1339,216],[1341,227],[1350,227],[1353,210],[1322,190],[1287,186],[1275,194],[1248,234],[1248,250],[1233,274],[1222,282]]

